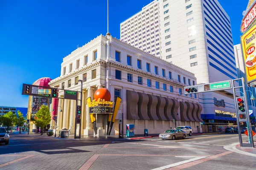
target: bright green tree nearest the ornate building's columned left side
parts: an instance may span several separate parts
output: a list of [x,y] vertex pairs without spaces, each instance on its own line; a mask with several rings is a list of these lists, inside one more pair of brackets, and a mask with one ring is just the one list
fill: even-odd
[[51,113],[49,107],[42,105],[39,111],[35,114],[35,125],[41,128],[41,135],[43,135],[43,129],[51,121]]

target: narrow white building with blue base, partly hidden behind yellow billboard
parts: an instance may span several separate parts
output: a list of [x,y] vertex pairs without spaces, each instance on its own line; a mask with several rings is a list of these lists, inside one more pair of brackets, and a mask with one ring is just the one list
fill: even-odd
[[[236,68],[237,68],[238,77],[239,78],[244,77],[244,79],[246,79],[245,69],[244,69],[244,58],[243,58],[243,54],[242,54],[241,44],[234,45],[234,50],[235,50],[235,56],[236,56]],[[247,87],[247,85],[246,85],[245,89],[248,90],[248,91],[246,91],[246,95],[247,95],[249,109],[252,110],[253,115],[256,116],[256,107],[255,107],[256,100],[250,100],[250,97],[252,94],[253,94],[253,96],[256,96],[255,88]],[[250,93],[249,91],[251,91],[252,93]]]

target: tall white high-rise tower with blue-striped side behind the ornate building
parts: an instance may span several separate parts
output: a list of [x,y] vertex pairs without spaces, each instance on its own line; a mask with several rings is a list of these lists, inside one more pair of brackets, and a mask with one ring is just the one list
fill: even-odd
[[[153,30],[151,30],[153,28],[151,22],[148,23],[150,27],[147,23],[144,25],[147,20],[141,23],[140,28],[131,28],[131,24],[128,27],[132,19],[147,16],[148,13],[150,16],[148,20],[151,21],[153,18],[155,20],[157,16],[153,12],[154,16],[151,17],[151,11],[156,10],[157,6],[158,23],[154,21]],[[147,19],[144,17],[141,20],[145,18]],[[137,28],[136,31],[141,30],[142,34],[149,30],[150,36],[146,36],[145,39],[150,38],[150,42],[156,42],[158,37],[151,36],[152,31],[158,34],[156,26],[160,27],[160,53],[152,52],[154,49],[135,47],[191,71],[195,74],[198,84],[237,78],[230,18],[218,0],[154,0],[142,11],[120,24],[120,39],[127,43],[130,43],[131,38],[137,40],[137,37],[125,35],[128,31],[126,29],[130,28],[129,32],[131,32],[132,29]],[[142,42],[142,45],[147,43]],[[235,113],[231,93],[232,91],[222,91],[201,94],[203,113],[212,115],[218,111]],[[215,106],[214,97],[218,100],[224,99],[227,103],[226,107]]]

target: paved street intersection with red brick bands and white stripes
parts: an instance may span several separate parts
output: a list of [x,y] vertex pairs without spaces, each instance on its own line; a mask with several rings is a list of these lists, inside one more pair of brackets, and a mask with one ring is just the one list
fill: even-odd
[[[246,140],[245,135],[243,139]],[[162,140],[93,137],[60,139],[11,134],[0,144],[1,170],[255,170],[255,157],[225,150],[238,134]]]

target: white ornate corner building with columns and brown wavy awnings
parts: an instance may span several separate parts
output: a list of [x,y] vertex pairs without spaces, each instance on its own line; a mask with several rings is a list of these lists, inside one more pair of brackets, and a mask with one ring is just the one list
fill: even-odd
[[[118,113],[124,115],[124,128],[134,124],[135,134],[143,134],[145,128],[151,134],[162,133],[175,128],[174,119],[177,126],[189,125],[193,132],[201,131],[198,95],[185,96],[186,85],[180,81],[196,84],[194,74],[116,38],[100,35],[64,57],[60,77],[49,85],[80,91],[79,79],[83,80],[81,134],[93,134],[86,99],[93,98],[102,87],[111,92],[111,101],[116,96],[122,98]],[[58,99],[56,105],[62,108],[56,113],[58,130],[67,128],[74,133],[75,104],[74,100]],[[98,120],[98,134],[105,134],[107,120],[103,116]],[[112,134],[117,131],[118,116]]]

